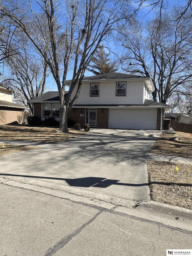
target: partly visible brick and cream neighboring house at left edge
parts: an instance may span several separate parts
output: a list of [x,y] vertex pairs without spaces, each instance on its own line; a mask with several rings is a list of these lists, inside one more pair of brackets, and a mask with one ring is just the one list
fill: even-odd
[[0,86],[0,125],[17,121],[17,117],[28,109],[12,102],[12,91]]

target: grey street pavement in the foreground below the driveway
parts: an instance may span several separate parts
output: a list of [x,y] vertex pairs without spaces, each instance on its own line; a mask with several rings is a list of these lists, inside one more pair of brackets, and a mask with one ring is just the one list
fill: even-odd
[[[192,231],[129,215],[125,207],[107,209],[6,183],[0,193],[1,256],[162,256],[166,249],[191,248]],[[169,216],[175,226],[191,225],[176,216]]]

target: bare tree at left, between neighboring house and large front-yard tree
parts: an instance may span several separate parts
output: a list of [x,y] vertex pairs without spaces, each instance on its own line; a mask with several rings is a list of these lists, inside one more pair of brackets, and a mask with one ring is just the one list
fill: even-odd
[[[29,44],[26,40],[19,41],[19,52],[4,62],[6,68],[10,71],[10,76],[4,79],[5,87],[12,89],[15,100],[30,108],[33,113],[32,104],[28,103],[45,91],[46,78],[49,75],[48,65],[45,60],[30,52]],[[7,84],[7,85],[6,85]],[[19,94],[19,95],[18,95]]]

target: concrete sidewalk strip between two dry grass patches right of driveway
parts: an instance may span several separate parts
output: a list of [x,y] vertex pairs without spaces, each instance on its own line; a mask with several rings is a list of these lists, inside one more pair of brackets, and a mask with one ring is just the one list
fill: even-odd
[[170,163],[180,163],[180,164],[192,164],[192,158],[184,158],[179,156],[173,156],[173,155],[157,155],[148,153],[147,159],[151,161],[164,161],[164,162],[170,162]]

